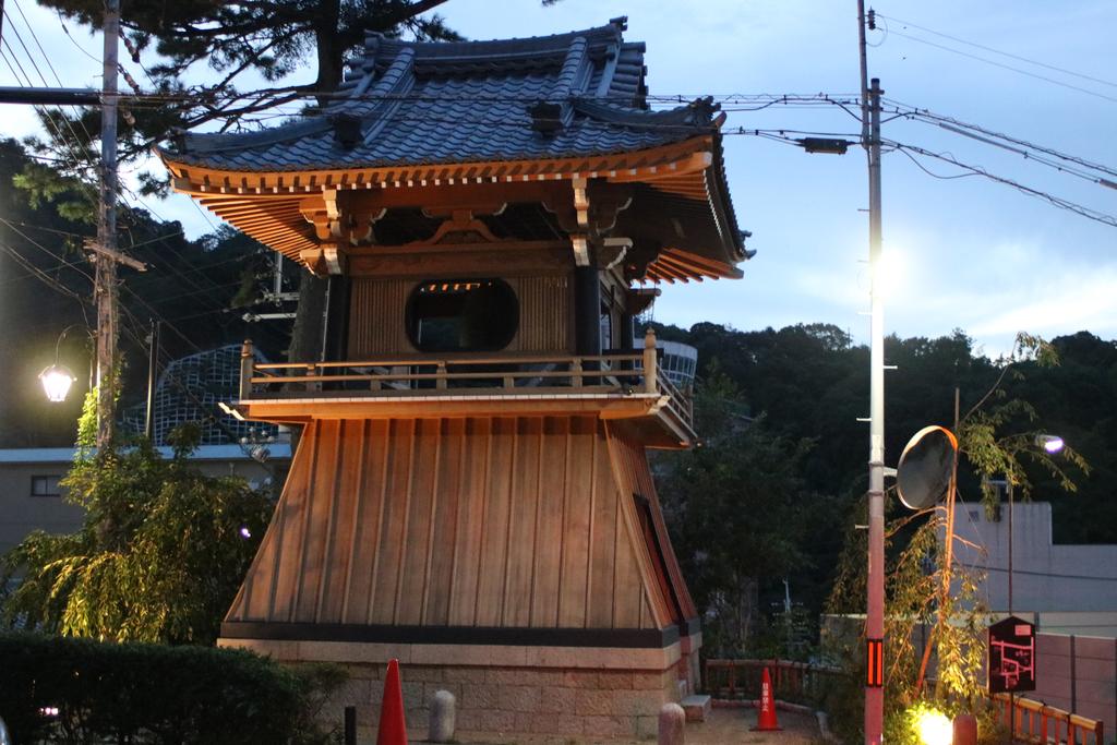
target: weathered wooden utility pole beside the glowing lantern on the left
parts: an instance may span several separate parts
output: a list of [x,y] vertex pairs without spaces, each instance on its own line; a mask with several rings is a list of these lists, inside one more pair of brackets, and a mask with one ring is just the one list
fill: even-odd
[[101,92],[101,203],[94,254],[97,304],[97,447],[113,439],[120,372],[116,297],[116,68],[121,32],[120,0],[105,1],[104,78]]

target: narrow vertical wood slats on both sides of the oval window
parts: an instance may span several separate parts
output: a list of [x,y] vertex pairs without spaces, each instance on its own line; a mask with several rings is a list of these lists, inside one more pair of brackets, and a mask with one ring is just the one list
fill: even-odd
[[[417,354],[407,335],[408,296],[421,279],[458,279],[462,274],[413,279],[354,277],[350,295],[349,359]],[[474,273],[476,274],[476,273]],[[504,277],[519,300],[519,328],[506,352],[572,352],[573,304],[565,275]]]

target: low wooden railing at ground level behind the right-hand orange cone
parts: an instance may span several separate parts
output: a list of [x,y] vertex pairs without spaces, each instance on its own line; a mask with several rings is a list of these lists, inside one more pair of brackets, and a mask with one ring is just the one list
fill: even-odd
[[764,668],[775,698],[791,704],[815,704],[830,681],[844,675],[838,668],[790,660],[706,660],[706,693],[716,700],[755,700]]

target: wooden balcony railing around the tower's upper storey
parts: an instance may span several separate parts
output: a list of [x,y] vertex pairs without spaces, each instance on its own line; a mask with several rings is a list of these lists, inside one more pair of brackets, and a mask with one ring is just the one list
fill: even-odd
[[658,394],[687,429],[694,410],[659,364],[656,337],[645,348],[599,355],[476,355],[369,357],[344,362],[257,363],[251,342],[241,347],[240,400],[326,397],[529,395],[605,392]]

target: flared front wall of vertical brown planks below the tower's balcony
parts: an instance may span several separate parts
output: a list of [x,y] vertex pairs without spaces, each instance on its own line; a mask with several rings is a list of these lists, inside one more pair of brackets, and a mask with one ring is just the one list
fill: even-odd
[[595,416],[315,420],[226,620],[667,629],[650,483]]

